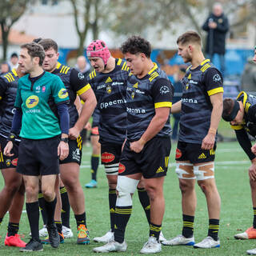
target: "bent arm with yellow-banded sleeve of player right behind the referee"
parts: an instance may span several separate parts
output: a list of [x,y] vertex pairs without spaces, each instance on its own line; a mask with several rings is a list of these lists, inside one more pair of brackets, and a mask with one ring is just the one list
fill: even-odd
[[92,90],[90,83],[86,81],[86,78],[82,78],[78,75],[78,71],[72,70],[70,74],[70,84],[77,91],[78,96],[85,102],[82,106],[81,114],[78,121],[70,128],[70,138],[78,138],[81,130],[89,121],[90,116],[93,114],[97,105],[97,100]]

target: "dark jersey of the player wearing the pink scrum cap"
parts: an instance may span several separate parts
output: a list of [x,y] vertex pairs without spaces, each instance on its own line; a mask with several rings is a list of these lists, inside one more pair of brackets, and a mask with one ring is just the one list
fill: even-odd
[[87,80],[94,90],[100,111],[99,142],[122,144],[126,138],[126,61],[116,59],[110,73],[92,71]]

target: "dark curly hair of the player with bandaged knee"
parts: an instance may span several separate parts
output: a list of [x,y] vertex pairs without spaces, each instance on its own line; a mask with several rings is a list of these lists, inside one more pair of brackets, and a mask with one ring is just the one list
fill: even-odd
[[133,35],[122,43],[122,54],[145,54],[147,58],[150,58],[151,46],[150,42],[140,36]]

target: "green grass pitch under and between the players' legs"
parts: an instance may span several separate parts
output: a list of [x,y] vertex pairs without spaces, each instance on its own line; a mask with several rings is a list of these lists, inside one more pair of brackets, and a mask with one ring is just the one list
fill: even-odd
[[[230,131],[230,137],[232,132]],[[174,151],[173,145],[170,164],[165,181],[166,213],[162,223],[162,231],[166,238],[173,238],[182,230],[181,194],[178,188],[178,178],[174,172]],[[90,152],[91,148],[84,146],[80,180],[84,187],[90,181]],[[201,250],[190,246],[162,246],[162,253],[159,255],[245,255],[246,250],[256,247],[256,240],[238,241],[234,234],[246,230],[252,225],[252,204],[250,199],[250,186],[247,169],[250,165],[246,154],[243,153],[237,142],[220,142],[216,154],[215,176],[218,190],[222,198],[222,212],[220,222],[221,247],[218,249]],[[156,152],[157,157],[157,152]],[[0,187],[2,187],[2,179]],[[98,188],[85,189],[86,195],[86,217],[87,226],[90,230],[90,237],[101,236],[110,229],[108,213],[108,187],[104,169],[100,166],[98,171]],[[195,215],[194,237],[200,242],[207,235],[208,214],[206,200],[202,191],[197,187],[198,206]],[[1,203],[1,202],[0,202]],[[8,214],[0,228],[1,245],[0,255],[20,255],[18,248],[4,246]],[[70,216],[70,223],[74,234],[74,215]],[[41,224],[42,226],[42,224]],[[20,234],[24,234],[24,241],[29,240],[30,227],[26,213],[22,214]],[[142,206],[138,203],[138,195],[134,194],[134,208],[130,222],[126,229],[126,242],[128,249],[126,255],[138,255],[144,242],[148,238],[148,224]],[[92,240],[92,239],[91,239]],[[44,246],[43,252],[38,255],[94,255],[92,249],[99,246],[91,242],[88,246],[76,245],[76,238],[66,239],[59,249]],[[116,255],[110,254],[110,255]]]

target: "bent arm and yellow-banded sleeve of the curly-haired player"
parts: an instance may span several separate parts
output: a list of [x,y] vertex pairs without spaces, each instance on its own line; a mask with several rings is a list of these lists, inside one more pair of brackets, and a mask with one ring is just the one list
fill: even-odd
[[[165,92],[161,90],[163,87],[166,88],[166,90],[164,90]],[[134,150],[136,153],[139,153],[146,142],[150,141],[151,138],[154,138],[154,136],[162,130],[170,115],[174,95],[174,87],[172,84],[168,79],[160,78],[154,83],[152,88],[151,93],[154,98],[155,114],[146,131],[142,134],[142,137],[138,141],[130,143],[130,149]]]

